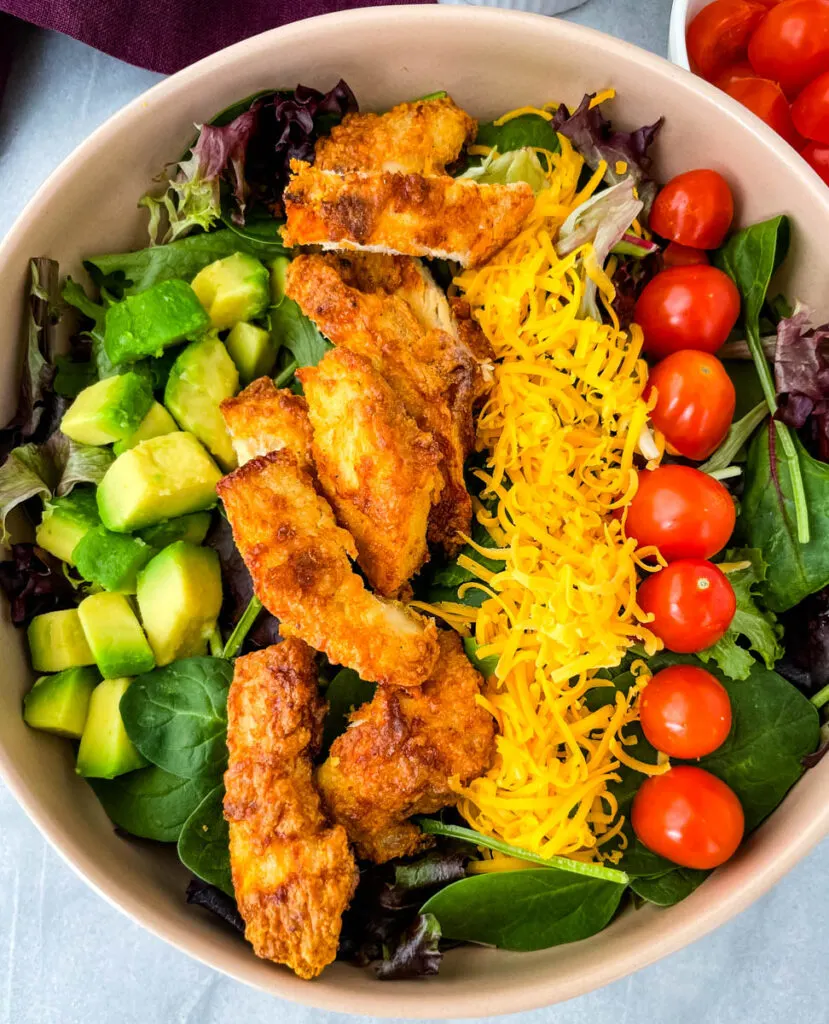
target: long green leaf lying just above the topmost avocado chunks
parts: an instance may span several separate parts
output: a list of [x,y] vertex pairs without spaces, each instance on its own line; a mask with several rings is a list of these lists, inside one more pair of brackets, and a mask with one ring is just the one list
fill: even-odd
[[201,269],[214,260],[233,253],[249,253],[262,259],[276,253],[270,243],[263,245],[250,238],[243,238],[229,228],[191,234],[166,246],[149,246],[133,253],[112,253],[91,256],[84,266],[99,288],[104,288],[117,298],[143,292],[151,285],[172,278],[192,281]]

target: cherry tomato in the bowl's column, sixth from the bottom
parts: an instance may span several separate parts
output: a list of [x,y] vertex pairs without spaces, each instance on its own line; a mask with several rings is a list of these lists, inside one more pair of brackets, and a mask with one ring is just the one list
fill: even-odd
[[740,315],[740,293],[714,266],[671,266],[648,282],[635,319],[645,351],[661,358],[681,348],[715,352]]

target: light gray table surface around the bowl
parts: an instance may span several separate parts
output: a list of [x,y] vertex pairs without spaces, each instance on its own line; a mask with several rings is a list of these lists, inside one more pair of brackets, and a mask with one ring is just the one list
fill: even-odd
[[[588,0],[567,15],[664,53],[668,0]],[[46,175],[159,76],[25,30],[0,108],[0,232]],[[826,873],[825,873],[826,872]],[[695,945],[515,1024],[822,1024],[829,844]],[[188,959],[105,904],[46,845],[0,783],[0,1024],[345,1024]],[[365,1020],[368,1020],[365,1018]]]

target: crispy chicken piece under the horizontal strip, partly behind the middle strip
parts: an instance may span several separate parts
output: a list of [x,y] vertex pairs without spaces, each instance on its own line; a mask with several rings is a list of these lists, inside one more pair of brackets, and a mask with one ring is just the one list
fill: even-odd
[[429,271],[406,256],[298,256],[286,290],[335,345],[369,358],[418,426],[434,436],[444,485],[429,539],[454,553],[472,521],[464,463],[475,439],[473,406],[491,373],[480,329],[459,321]]

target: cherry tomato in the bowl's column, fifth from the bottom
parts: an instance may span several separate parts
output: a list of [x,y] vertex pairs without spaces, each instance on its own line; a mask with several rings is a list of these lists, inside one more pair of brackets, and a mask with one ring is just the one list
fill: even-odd
[[646,398],[654,388],[651,420],[672,452],[707,459],[729,432],[737,404],[734,384],[719,359],[691,350],[666,355],[650,372]]

